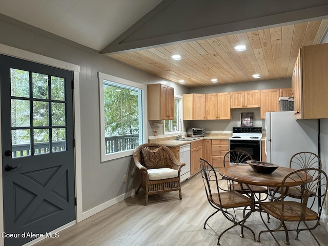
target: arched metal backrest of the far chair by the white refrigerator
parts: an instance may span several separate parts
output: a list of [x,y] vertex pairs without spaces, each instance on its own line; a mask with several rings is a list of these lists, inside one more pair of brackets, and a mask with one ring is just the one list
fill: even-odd
[[312,152],[299,152],[291,157],[290,168],[318,168],[321,169],[321,160],[318,155]]

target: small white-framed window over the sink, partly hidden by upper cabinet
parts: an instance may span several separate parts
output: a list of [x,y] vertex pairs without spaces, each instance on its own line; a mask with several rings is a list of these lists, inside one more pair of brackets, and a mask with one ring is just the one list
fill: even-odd
[[172,120],[165,120],[164,124],[164,132],[165,134],[171,133],[180,133],[182,132],[182,106],[181,106],[181,97],[175,96],[174,97],[174,119]]

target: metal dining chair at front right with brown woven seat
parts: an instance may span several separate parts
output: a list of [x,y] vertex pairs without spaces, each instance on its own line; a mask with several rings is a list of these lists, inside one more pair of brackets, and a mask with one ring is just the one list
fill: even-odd
[[[311,173],[311,175],[310,175]],[[297,179],[300,179],[296,181]],[[281,193],[285,190],[289,190],[291,187],[285,186],[285,182],[295,181],[295,188],[300,194],[300,199],[297,200],[285,200],[285,196],[281,196],[280,200],[276,201],[264,201],[259,203],[261,219],[268,230],[261,231],[258,235],[258,241],[260,242],[260,236],[262,233],[271,233],[278,245],[279,242],[274,236],[273,232],[285,232],[285,243],[289,242],[289,231],[296,231],[296,240],[298,240],[298,234],[302,231],[309,231],[317,244],[320,246],[317,238],[313,234],[313,230],[317,228],[320,223],[320,216],[323,208],[323,203],[326,197],[326,192],[323,191],[327,185],[328,177],[325,172],[318,168],[304,168],[296,170],[283,179],[281,186]],[[320,200],[318,208],[315,206],[314,200]],[[280,221],[278,227],[270,229],[268,224],[265,223],[262,213],[265,212],[268,215],[278,219]],[[310,222],[312,221],[312,222]],[[295,222],[298,222],[295,224]],[[310,224],[310,223],[311,224]]]

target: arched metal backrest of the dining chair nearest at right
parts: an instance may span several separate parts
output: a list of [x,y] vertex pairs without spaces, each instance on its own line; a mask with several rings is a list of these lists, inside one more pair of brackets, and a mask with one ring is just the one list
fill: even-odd
[[[311,174],[311,175],[310,175]],[[296,181],[296,180],[299,181]],[[325,187],[328,182],[328,177],[325,172],[318,168],[304,168],[296,170],[283,179],[281,186],[281,193],[283,194],[288,187],[285,186],[285,181],[295,181],[293,189],[297,189],[300,193],[299,202],[302,204],[302,210],[300,211],[300,220],[303,221],[306,214],[306,208],[310,208],[318,213],[319,219],[325,201],[326,192]],[[314,200],[320,201],[318,208],[314,207]],[[284,214],[284,196],[282,196],[282,216]],[[286,210],[293,210],[286,207]]]

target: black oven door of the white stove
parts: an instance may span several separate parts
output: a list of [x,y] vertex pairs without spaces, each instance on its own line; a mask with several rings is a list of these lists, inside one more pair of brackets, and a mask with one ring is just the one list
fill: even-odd
[[259,140],[229,140],[229,150],[243,150],[248,152],[253,160],[261,160],[261,141]]

